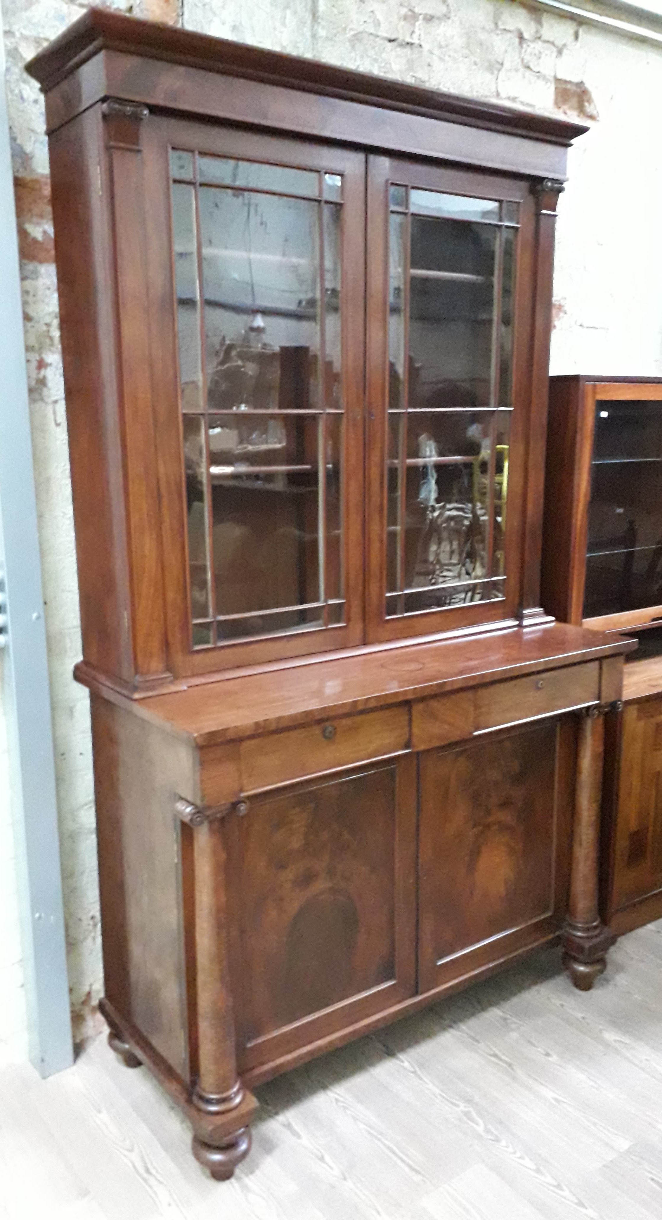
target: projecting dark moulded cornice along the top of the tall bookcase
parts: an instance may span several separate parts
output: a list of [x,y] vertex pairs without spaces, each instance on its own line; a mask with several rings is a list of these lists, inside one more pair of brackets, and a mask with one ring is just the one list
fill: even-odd
[[291,85],[315,94],[365,101],[489,131],[511,132],[563,146],[569,146],[575,137],[589,129],[552,115],[459,98],[175,26],[138,21],[107,9],[88,9],[35,55],[26,65],[26,71],[39,81],[46,93],[103,50],[126,51],[225,76]]

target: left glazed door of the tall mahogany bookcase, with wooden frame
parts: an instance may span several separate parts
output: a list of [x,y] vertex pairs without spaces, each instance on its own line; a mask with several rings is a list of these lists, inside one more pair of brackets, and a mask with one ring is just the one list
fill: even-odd
[[363,639],[365,157],[150,118],[176,675]]

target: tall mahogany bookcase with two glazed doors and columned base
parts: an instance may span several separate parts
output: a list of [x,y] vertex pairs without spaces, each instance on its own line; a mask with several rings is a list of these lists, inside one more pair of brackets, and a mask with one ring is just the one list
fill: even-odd
[[564,938],[614,636],[540,609],[566,121],[89,11],[53,171],[112,1044],[253,1086]]

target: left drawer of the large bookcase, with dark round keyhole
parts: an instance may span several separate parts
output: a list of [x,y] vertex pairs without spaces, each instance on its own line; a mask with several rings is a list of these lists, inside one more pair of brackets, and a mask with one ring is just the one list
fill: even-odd
[[287,780],[335,771],[408,748],[407,705],[269,733],[241,743],[242,789],[270,788]]

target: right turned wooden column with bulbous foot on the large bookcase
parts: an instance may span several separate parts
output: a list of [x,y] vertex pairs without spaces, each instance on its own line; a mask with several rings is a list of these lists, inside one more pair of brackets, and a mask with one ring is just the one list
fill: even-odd
[[570,900],[563,931],[563,964],[580,991],[590,991],[606,966],[614,937],[600,920],[600,814],[605,712],[608,704],[586,708],[579,723],[573,831]]

